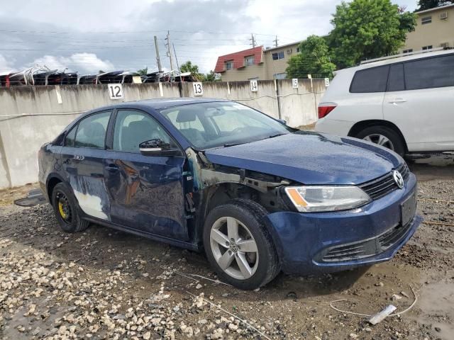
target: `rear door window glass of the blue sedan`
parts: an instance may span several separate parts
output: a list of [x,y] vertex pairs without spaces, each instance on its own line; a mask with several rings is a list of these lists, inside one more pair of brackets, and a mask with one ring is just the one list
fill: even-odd
[[89,115],[79,122],[74,147],[104,149],[111,111]]

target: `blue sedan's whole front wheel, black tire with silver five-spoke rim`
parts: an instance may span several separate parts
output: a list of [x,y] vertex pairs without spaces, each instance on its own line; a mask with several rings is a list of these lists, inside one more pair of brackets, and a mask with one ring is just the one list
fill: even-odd
[[211,210],[204,225],[206,256],[221,280],[245,290],[266,285],[280,271],[277,251],[252,200],[236,199]]

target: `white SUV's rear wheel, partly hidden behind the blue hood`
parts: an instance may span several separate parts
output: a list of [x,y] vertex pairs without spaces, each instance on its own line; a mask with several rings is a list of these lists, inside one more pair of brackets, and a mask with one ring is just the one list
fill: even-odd
[[405,155],[405,145],[402,137],[394,129],[387,126],[370,126],[360,131],[355,137],[392,149],[401,157]]

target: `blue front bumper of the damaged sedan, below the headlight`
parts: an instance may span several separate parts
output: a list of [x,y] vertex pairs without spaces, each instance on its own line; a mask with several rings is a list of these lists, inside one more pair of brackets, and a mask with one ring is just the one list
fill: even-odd
[[421,217],[402,226],[402,203],[416,195],[416,177],[404,189],[354,210],[274,212],[267,227],[286,273],[323,273],[388,261],[406,244]]

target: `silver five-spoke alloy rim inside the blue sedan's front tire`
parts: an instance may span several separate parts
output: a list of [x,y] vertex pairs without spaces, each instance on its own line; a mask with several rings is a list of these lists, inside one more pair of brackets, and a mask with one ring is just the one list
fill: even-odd
[[246,280],[258,268],[258,248],[249,229],[234,217],[221,217],[211,227],[211,252],[232,278]]

